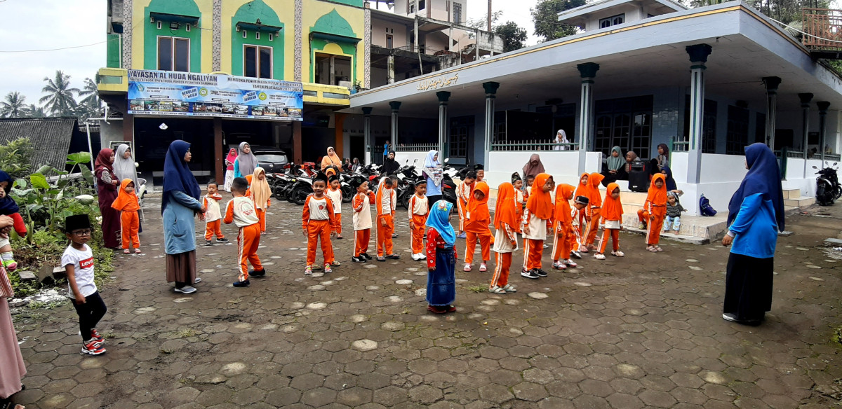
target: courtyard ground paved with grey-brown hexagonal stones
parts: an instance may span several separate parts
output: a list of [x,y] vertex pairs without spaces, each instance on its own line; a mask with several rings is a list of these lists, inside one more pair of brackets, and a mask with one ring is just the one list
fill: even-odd
[[[145,254],[120,254],[115,281],[101,289],[108,353],[80,354],[70,304],[19,313],[29,374],[15,401],[44,409],[744,409],[837,407],[842,397],[834,340],[842,261],[820,247],[839,237],[839,205],[787,219],[795,234],[778,241],[773,308],[755,328],[722,320],[721,245],[665,241],[652,254],[642,237],[621,234],[626,258],[587,258],[538,281],[513,274],[519,291],[504,296],[472,291],[488,286],[490,272],[458,271],[458,310],[439,316],[426,310],[425,265],[408,253],[354,265],[346,238],[335,242],[342,266],[305,277],[301,210],[289,203],[270,209],[259,254],[266,278],[233,288],[235,246],[200,246],[203,281],[185,296],[165,282],[155,200],[141,233]],[[232,227],[223,231],[234,238]],[[397,231],[397,249],[407,249],[407,223]]]

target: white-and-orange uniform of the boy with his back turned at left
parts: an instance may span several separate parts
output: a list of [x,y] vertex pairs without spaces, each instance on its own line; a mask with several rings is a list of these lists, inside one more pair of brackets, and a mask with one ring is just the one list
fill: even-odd
[[248,265],[252,264],[254,270],[263,270],[258,257],[258,246],[260,246],[260,219],[257,210],[254,209],[254,202],[249,197],[234,197],[225,208],[226,224],[234,223],[240,232],[237,233],[237,258],[240,260],[240,274],[238,281],[248,280]]

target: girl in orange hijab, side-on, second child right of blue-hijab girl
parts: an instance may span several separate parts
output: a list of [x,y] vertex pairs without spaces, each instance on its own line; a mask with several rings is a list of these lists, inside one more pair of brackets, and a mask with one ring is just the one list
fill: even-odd
[[516,292],[517,289],[509,284],[509,268],[512,265],[512,253],[518,249],[517,226],[520,225],[517,208],[516,190],[511,183],[501,183],[497,188],[497,205],[494,207],[494,252],[497,253],[497,265],[488,291],[494,294]]

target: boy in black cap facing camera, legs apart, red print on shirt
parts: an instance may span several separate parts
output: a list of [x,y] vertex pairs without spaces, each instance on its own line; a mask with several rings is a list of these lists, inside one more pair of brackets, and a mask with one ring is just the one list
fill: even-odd
[[304,201],[304,212],[301,214],[301,228],[307,238],[307,266],[305,275],[311,275],[316,263],[316,243],[322,240],[322,256],[324,257],[324,272],[332,273],[331,265],[340,265],[333,258],[333,245],[330,238],[336,228],[336,218],[333,213],[333,201],[324,194],[328,188],[328,176],[319,173],[313,179],[313,192]]

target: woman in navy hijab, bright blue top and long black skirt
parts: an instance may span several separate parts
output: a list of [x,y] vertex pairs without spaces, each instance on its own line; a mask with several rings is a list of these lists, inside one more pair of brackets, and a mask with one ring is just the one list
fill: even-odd
[[745,149],[749,173],[728,203],[731,245],[722,318],[759,325],[772,307],[772,277],[778,231],[784,229],[784,197],[775,154],[765,144]]

